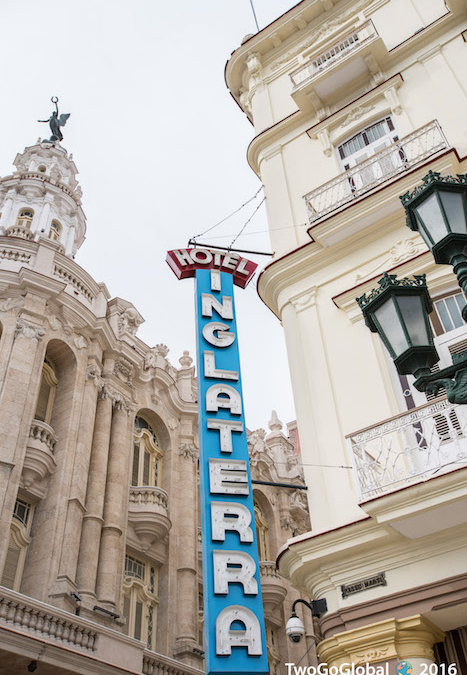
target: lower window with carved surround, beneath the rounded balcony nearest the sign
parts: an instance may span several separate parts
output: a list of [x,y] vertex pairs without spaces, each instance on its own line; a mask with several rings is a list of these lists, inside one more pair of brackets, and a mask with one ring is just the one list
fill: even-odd
[[123,583],[123,616],[125,633],[146,642],[148,649],[155,649],[158,570],[147,560],[127,553],[125,556],[125,581]]

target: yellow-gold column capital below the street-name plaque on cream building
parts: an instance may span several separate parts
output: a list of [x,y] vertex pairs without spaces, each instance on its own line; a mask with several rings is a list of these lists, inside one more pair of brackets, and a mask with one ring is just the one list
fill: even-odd
[[433,645],[444,633],[420,614],[403,619],[387,619],[345,633],[336,633],[319,643],[321,663],[331,666],[363,665],[410,661],[414,672],[422,663],[434,663]]

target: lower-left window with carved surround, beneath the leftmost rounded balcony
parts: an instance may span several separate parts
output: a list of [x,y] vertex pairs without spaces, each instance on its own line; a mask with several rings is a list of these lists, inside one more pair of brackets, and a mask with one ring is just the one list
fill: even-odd
[[24,559],[30,541],[33,508],[32,504],[18,498],[13,511],[10,540],[0,584],[14,591],[18,591],[21,586]]

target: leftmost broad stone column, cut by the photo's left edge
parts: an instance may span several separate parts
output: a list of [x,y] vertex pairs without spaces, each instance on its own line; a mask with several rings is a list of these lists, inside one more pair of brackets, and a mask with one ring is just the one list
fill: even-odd
[[[8,328],[4,328],[4,333]],[[26,441],[42,372],[45,330],[27,315],[14,327],[7,371],[0,392],[0,542],[8,542],[13,507],[23,468]],[[4,334],[3,339],[8,339]],[[0,571],[7,546],[0,546]]]

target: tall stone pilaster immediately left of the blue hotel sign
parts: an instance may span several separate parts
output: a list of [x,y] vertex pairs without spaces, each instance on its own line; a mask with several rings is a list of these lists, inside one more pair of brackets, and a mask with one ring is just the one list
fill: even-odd
[[[194,652],[198,647],[198,577],[197,542],[198,521],[196,509],[197,452],[189,444],[182,444],[178,464],[177,503],[177,607],[174,656],[184,663],[200,668],[201,658]],[[175,496],[175,495],[174,495]]]

